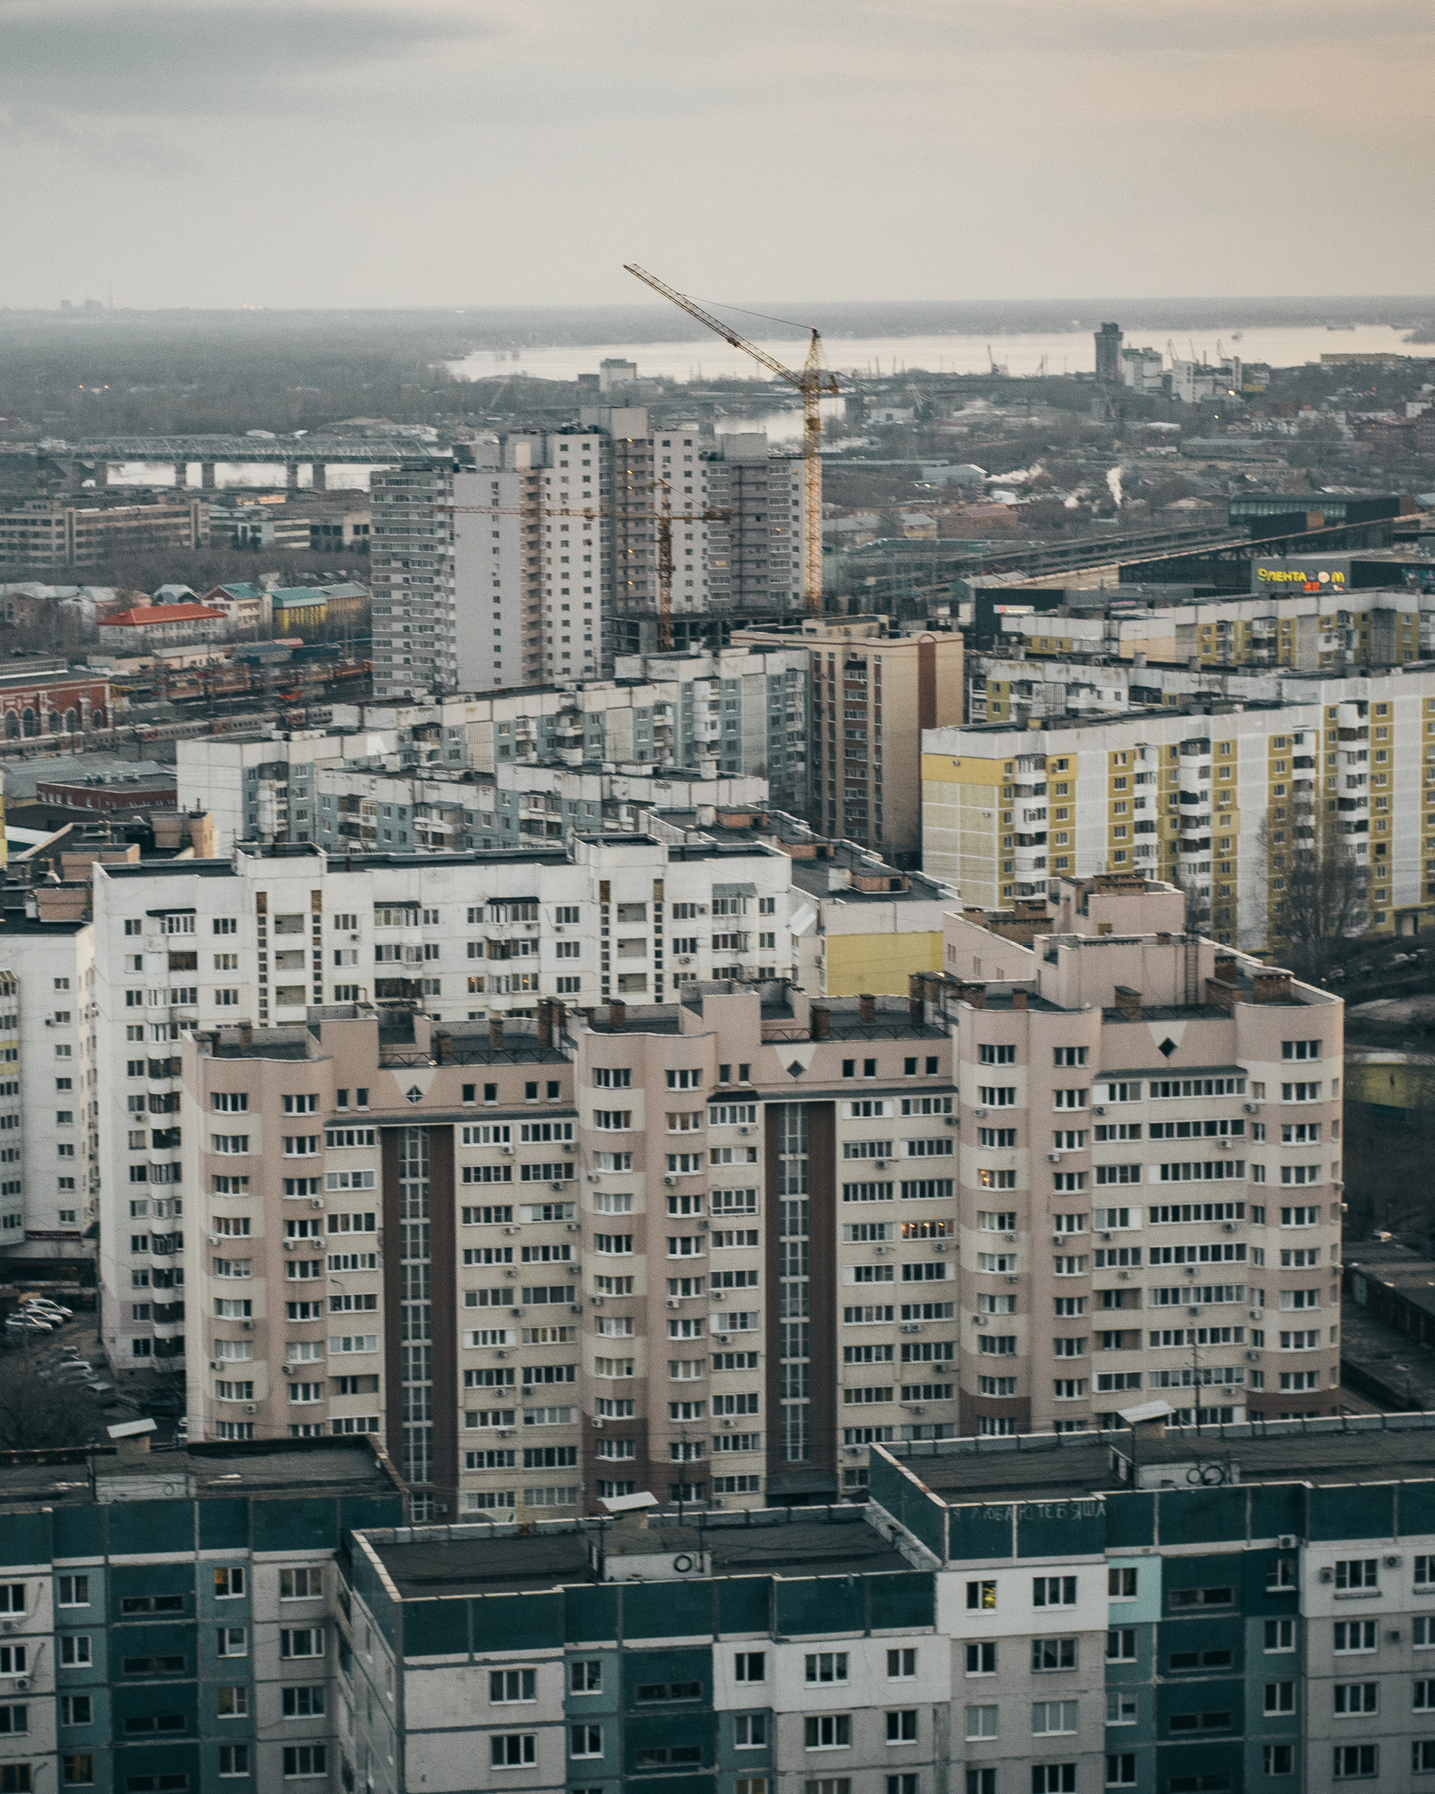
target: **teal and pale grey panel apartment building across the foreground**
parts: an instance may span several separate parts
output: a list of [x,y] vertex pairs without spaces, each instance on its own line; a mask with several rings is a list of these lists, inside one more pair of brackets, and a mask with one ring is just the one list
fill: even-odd
[[364,1437],[0,1462],[0,1789],[1435,1787],[1435,1415],[879,1446],[870,1496],[418,1527]]

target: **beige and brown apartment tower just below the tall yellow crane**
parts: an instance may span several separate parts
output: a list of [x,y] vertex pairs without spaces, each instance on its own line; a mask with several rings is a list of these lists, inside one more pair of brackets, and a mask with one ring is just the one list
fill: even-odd
[[[963,714],[961,637],[891,635],[886,617],[809,617],[798,630],[734,630],[734,646],[811,655],[813,825],[900,865],[922,854],[922,730]],[[940,868],[938,877],[947,874]]]

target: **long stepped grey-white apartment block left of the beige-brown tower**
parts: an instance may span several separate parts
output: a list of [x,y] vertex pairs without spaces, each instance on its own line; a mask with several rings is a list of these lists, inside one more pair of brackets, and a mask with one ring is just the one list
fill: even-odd
[[328,732],[179,743],[179,802],[222,845],[524,847],[640,827],[651,806],[807,809],[807,655],[619,658],[617,678],[427,705],[341,705]]

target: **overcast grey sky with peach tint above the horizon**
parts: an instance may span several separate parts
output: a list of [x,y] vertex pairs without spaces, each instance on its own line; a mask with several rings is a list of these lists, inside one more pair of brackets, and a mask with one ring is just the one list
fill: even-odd
[[0,305],[1435,292],[1430,0],[0,0]]

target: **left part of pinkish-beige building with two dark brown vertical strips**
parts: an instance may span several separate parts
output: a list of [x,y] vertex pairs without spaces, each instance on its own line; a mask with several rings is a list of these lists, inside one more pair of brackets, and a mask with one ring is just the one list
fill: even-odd
[[856,1493],[956,1432],[949,1066],[782,983],[199,1030],[192,1432],[380,1432],[429,1512]]

